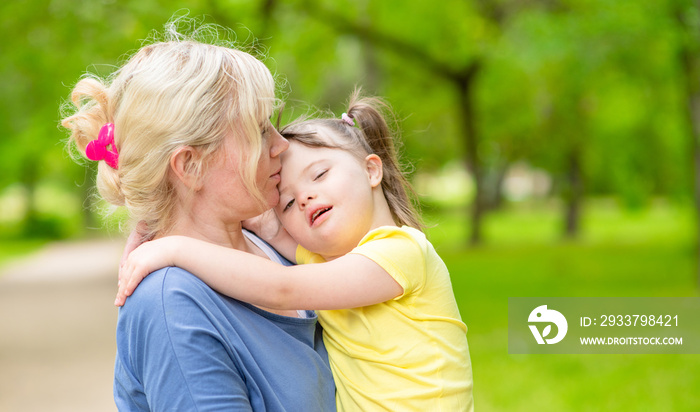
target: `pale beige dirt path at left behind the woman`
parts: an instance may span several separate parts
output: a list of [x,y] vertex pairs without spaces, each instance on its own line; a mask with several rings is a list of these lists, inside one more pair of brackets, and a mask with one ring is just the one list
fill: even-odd
[[0,411],[115,411],[123,240],[50,244],[0,268]]

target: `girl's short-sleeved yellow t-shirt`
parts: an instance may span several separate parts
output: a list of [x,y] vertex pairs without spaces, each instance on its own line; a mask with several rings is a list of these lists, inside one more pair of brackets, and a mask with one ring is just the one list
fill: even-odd
[[[472,411],[472,367],[450,275],[419,230],[384,226],[350,253],[404,289],[393,300],[318,311],[339,411]],[[323,258],[302,247],[297,262]]]

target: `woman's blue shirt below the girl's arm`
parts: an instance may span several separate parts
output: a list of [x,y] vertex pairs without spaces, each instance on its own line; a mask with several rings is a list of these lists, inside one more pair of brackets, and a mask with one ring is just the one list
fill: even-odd
[[335,410],[320,326],[307,315],[281,316],[228,298],[180,268],[153,272],[119,311],[117,407]]

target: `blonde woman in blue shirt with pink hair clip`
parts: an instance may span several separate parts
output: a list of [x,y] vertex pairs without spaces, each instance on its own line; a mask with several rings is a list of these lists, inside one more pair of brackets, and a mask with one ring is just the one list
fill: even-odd
[[[241,226],[279,201],[288,146],[270,124],[274,80],[259,60],[196,41],[155,43],[111,82],[78,82],[72,101],[71,145],[99,162],[102,197],[146,222],[149,236],[284,263]],[[317,332],[313,312],[255,307],[161,269],[120,310],[115,401],[129,411],[333,410]]]

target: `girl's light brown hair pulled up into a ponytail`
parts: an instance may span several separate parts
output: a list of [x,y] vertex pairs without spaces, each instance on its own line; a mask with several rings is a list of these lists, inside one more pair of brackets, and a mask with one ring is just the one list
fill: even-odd
[[[386,120],[393,119],[389,105],[377,97],[362,97],[360,89],[356,89],[350,96],[347,115],[356,127],[340,117],[301,119],[285,126],[280,134],[309,147],[346,150],[360,159],[369,154],[379,156],[383,169],[382,192],[394,222],[422,229],[424,225],[414,202],[417,196],[403,172],[394,133]],[[331,133],[332,141],[319,135],[321,128]]]

